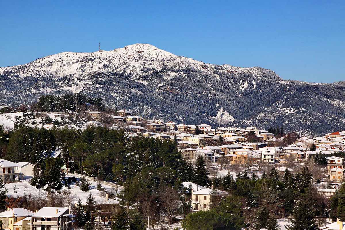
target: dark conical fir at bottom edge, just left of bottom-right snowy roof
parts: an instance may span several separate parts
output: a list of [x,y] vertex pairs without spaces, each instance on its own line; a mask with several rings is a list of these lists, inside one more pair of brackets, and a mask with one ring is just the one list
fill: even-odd
[[287,227],[288,230],[318,230],[314,220],[313,207],[309,204],[307,198],[300,200],[296,204],[292,214],[294,218]]

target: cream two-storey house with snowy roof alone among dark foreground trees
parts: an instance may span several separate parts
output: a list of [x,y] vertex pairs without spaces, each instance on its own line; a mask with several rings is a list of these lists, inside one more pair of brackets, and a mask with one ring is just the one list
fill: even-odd
[[192,189],[191,192],[191,201],[193,206],[193,211],[206,211],[210,209],[211,197],[212,196],[219,196],[220,194],[226,194],[226,192],[213,189],[212,188],[205,188],[199,189],[195,191]]

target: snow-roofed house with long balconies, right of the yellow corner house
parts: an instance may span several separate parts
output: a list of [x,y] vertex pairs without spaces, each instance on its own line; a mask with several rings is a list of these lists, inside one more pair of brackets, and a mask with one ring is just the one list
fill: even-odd
[[30,230],[72,230],[75,216],[70,208],[44,207],[31,216]]

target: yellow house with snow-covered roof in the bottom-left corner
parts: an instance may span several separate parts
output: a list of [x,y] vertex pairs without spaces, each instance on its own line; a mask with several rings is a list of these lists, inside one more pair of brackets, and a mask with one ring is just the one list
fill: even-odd
[[0,213],[2,228],[10,230],[22,230],[29,228],[27,226],[29,223],[29,219],[27,219],[27,217],[30,217],[33,214],[34,212],[24,208],[7,208],[7,211]]

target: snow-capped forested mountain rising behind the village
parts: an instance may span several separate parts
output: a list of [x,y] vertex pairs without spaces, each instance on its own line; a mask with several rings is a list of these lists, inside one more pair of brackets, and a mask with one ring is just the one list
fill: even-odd
[[150,44],[3,67],[0,85],[2,104],[82,92],[109,107],[177,122],[283,126],[306,134],[345,129],[344,83],[286,81],[272,70],[207,64]]

